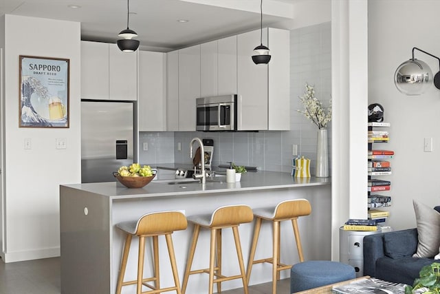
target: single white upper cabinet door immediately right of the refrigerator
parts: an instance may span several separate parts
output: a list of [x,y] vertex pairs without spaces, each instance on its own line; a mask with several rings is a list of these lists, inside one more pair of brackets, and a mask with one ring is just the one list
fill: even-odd
[[139,51],[137,109],[140,132],[166,131],[165,53]]

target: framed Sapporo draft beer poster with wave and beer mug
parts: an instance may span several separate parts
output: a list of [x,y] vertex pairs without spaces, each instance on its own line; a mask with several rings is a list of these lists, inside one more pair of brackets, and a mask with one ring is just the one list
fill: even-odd
[[20,55],[19,127],[69,127],[69,59]]

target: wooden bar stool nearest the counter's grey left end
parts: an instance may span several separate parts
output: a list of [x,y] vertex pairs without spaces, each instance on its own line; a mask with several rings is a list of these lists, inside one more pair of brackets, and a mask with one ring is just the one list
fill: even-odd
[[[177,266],[171,234],[173,231],[186,229],[188,223],[185,215],[180,211],[162,211],[146,213],[139,220],[121,222],[116,226],[126,233],[124,251],[120,273],[118,276],[118,286],[116,294],[121,293],[122,286],[137,284],[137,294],[141,293],[162,293],[166,291],[177,291],[181,294],[179,276],[177,275]],[[133,235],[139,237],[139,255],[137,256],[137,280],[124,282],[126,263],[129,258],[131,239]],[[165,235],[168,255],[170,256],[171,269],[174,276],[174,287],[160,288],[159,284],[159,235]],[[144,253],[145,239],[153,237],[153,277],[144,278]],[[148,282],[154,282],[154,286]],[[153,290],[142,292],[142,285]]]

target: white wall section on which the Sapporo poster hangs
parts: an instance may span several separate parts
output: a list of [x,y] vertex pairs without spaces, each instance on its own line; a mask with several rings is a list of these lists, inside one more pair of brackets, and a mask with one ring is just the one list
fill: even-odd
[[[80,182],[80,23],[5,15],[5,262],[60,254],[59,185]],[[19,55],[70,59],[69,128],[19,127]],[[31,138],[32,149],[23,149]],[[67,149],[55,149],[66,138]]]

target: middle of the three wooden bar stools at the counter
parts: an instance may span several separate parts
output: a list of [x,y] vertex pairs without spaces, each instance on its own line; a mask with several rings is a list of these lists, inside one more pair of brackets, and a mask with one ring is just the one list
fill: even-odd
[[[221,282],[228,280],[243,280],[243,288],[245,294],[248,294],[248,281],[246,280],[245,266],[243,263],[243,253],[241,251],[239,225],[246,222],[252,222],[254,219],[252,209],[247,205],[231,205],[217,208],[212,214],[188,216],[188,221],[195,224],[194,233],[188,260],[186,262],[186,270],[184,274],[184,282],[182,285],[182,293],[185,293],[188,284],[188,277],[195,273],[209,273],[209,294],[212,294],[214,283],[217,283],[217,293],[221,292]],[[210,259],[209,269],[199,269],[191,271],[192,260],[199,238],[200,228],[210,229]],[[237,257],[240,266],[240,275],[226,277],[221,274],[221,230],[232,228],[234,233],[234,241]],[[215,278],[214,278],[215,277]]]

